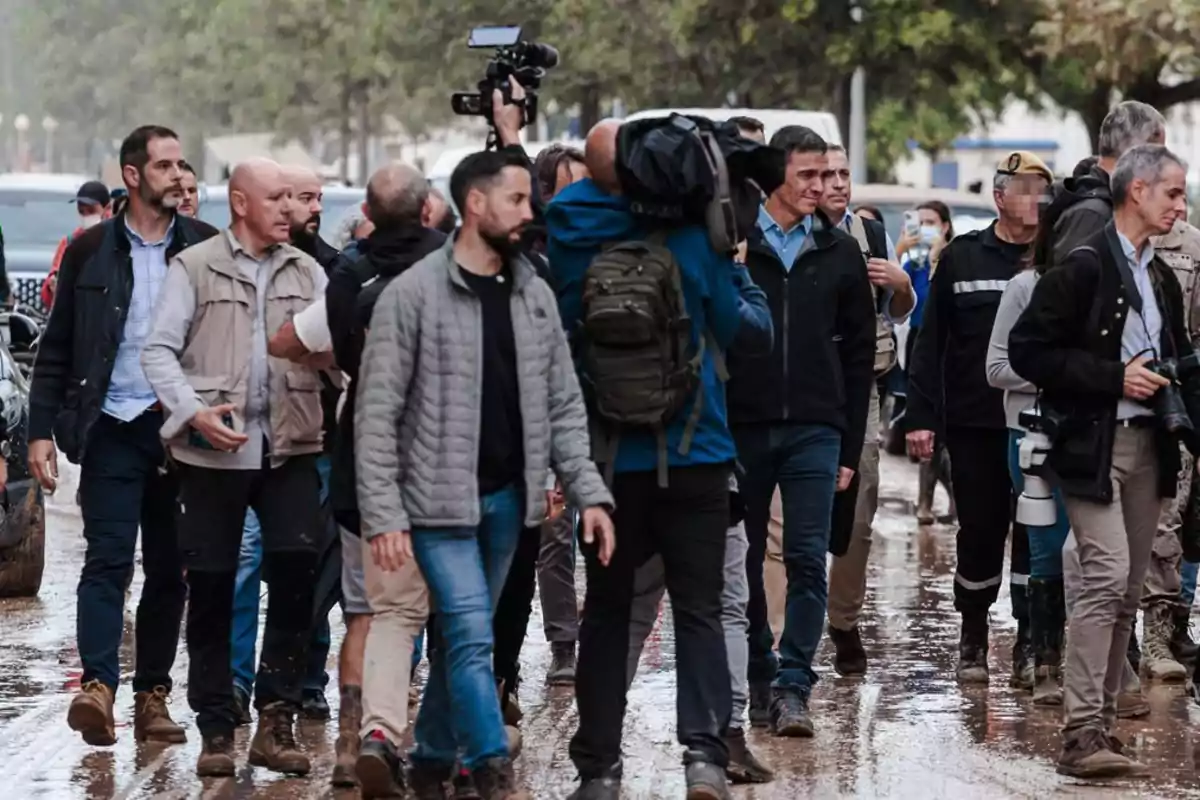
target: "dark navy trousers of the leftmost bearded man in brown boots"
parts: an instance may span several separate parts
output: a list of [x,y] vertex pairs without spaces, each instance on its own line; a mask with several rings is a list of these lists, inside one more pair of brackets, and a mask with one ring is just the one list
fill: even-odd
[[84,684],[120,682],[125,587],[133,575],[138,530],[145,585],[138,601],[133,691],[170,690],[170,668],[184,616],[184,565],[175,529],[178,475],[167,469],[158,438],[161,411],[131,422],[101,415],[79,476],[83,534],[88,541],[79,576],[77,642]]

